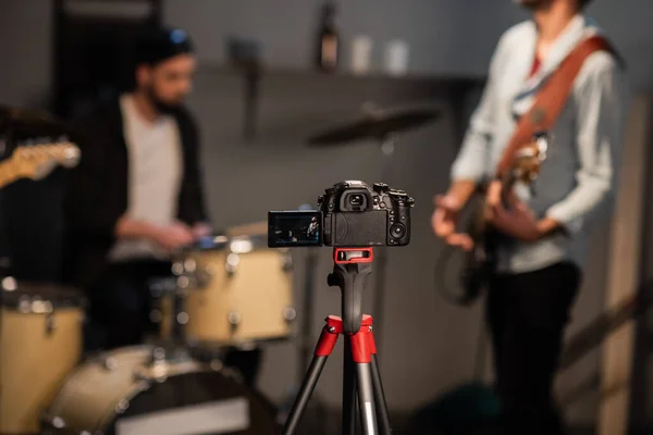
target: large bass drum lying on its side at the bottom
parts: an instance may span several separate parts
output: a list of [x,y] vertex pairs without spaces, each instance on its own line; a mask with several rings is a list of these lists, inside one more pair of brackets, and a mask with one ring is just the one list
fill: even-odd
[[272,406],[221,363],[152,359],[159,350],[121,348],[82,364],[53,400],[44,433],[280,433]]

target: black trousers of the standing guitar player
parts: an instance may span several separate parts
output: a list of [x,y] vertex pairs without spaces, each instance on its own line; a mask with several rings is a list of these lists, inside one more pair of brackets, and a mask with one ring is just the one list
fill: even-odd
[[566,433],[553,385],[580,281],[568,262],[492,279],[486,314],[502,402],[498,434]]

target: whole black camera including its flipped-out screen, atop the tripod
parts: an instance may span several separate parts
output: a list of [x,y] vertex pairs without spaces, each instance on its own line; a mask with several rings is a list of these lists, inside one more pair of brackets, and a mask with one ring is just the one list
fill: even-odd
[[404,190],[350,181],[325,189],[318,210],[268,213],[268,246],[406,246],[414,198]]

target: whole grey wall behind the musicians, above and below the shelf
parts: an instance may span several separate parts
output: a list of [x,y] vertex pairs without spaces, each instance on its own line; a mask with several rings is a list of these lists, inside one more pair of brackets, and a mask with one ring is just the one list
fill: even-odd
[[[498,35],[523,17],[509,0],[356,0],[342,3],[341,27],[347,40],[370,35],[380,47],[392,38],[410,45],[410,67],[415,72],[484,74]],[[224,59],[226,35],[260,38],[269,64],[300,67],[309,63],[318,0],[167,0],[164,18],[186,27],[195,37],[200,58],[207,62]],[[41,105],[49,94],[50,10],[45,0],[0,2],[0,103]],[[631,82],[649,88],[653,77],[653,35],[648,18],[649,0],[595,0],[590,10],[614,37],[631,69]],[[345,60],[345,64],[347,61]],[[394,92],[384,83],[343,87],[320,82],[269,78],[263,84],[261,138],[255,145],[238,139],[242,110],[241,82],[229,75],[201,73],[190,105],[202,128],[204,164],[209,204],[218,226],[264,219],[270,209],[295,208],[313,201],[333,182],[379,176],[380,156],[371,144],[333,150],[307,150],[301,138],[313,128],[354,115],[360,102],[374,99],[396,103],[420,99],[415,89]],[[430,199],[446,188],[448,164],[454,158],[454,130],[449,117],[407,135],[396,152],[390,182],[402,186],[418,201],[411,245],[390,252],[389,296],[380,351],[391,407],[410,409],[469,378],[478,307],[453,308],[433,290],[432,264],[441,245],[431,235],[428,217]],[[237,206],[230,199],[238,197]],[[603,303],[603,264],[607,240],[601,228],[594,240],[592,274],[588,276],[575,312],[570,333],[600,312]],[[653,243],[653,239],[652,239]],[[322,314],[337,312],[337,291],[325,287],[329,249],[321,253],[316,288],[313,333]],[[300,264],[301,254],[297,253]],[[301,271],[297,271],[298,282]],[[370,285],[371,288],[371,285]],[[296,289],[297,291],[298,289]],[[296,301],[300,302],[296,294]],[[372,291],[367,299],[371,301]],[[269,349],[261,388],[279,399],[294,380],[294,350],[291,344]],[[340,400],[340,352],[325,370],[319,395],[329,403]],[[596,366],[591,355],[562,375],[562,389],[569,389]],[[569,410],[575,421],[591,422],[595,396]]]

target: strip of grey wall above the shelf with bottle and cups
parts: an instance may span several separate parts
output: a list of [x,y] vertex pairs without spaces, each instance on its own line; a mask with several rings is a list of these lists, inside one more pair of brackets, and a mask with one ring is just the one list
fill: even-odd
[[[192,30],[200,57],[224,59],[223,38],[251,37],[264,44],[268,63],[305,66],[320,0],[165,0],[165,20]],[[422,73],[484,74],[496,39],[527,15],[512,0],[355,0],[338,1],[340,27],[347,54],[356,35],[374,41],[375,65],[384,44],[404,39],[410,46],[410,70]],[[638,88],[653,77],[653,34],[648,0],[595,0],[588,13],[614,39]],[[345,54],[345,63],[348,57]]]

